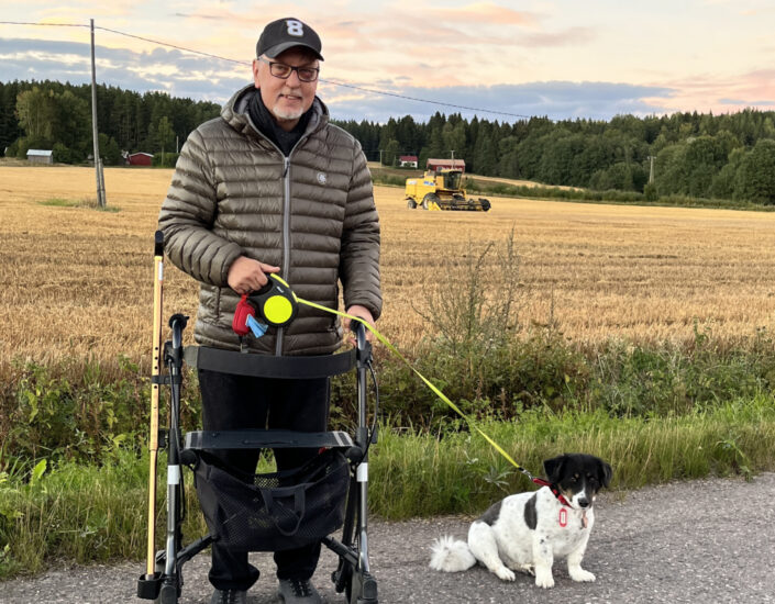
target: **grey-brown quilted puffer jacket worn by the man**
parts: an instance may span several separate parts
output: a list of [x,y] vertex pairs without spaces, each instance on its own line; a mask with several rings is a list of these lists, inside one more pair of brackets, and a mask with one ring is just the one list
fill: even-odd
[[[204,346],[239,348],[240,297],[226,276],[243,255],[281,267],[300,298],[336,309],[339,280],[345,307],[381,311],[379,221],[361,145],[315,98],[286,158],[247,115],[256,92],[239,91],[189,135],[159,214],[167,257],[201,282],[195,338]],[[342,329],[335,315],[302,304],[290,325],[246,339],[265,354],[321,355],[336,350]]]

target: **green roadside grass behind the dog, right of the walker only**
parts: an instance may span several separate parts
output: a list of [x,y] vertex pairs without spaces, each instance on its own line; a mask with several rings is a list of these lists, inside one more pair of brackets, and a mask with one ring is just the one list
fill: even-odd
[[[479,427],[520,466],[543,476],[542,462],[563,452],[596,455],[613,467],[612,489],[676,479],[775,469],[775,401],[761,395],[683,416],[611,417],[604,412],[525,412]],[[528,491],[527,477],[481,436],[467,432],[397,435],[387,432],[370,460],[373,508],[402,519],[484,512],[506,494]]]

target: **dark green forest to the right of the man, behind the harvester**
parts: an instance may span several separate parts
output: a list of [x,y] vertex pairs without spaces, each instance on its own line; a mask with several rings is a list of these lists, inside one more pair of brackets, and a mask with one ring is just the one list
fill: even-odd
[[[610,121],[531,118],[489,122],[436,113],[428,123],[407,115],[380,125],[341,123],[384,164],[401,155],[465,159],[466,171],[660,195],[775,203],[775,112],[617,115]],[[379,152],[378,152],[379,153]],[[653,183],[649,184],[653,165]]]

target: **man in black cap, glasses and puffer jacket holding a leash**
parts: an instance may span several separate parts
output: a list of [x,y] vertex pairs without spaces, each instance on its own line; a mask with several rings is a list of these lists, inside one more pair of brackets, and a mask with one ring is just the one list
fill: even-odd
[[[315,97],[318,34],[297,19],[266,25],[253,60],[254,83],[236,92],[221,116],[193,131],[182,147],[159,214],[173,264],[200,281],[196,340],[239,349],[232,317],[240,294],[279,273],[299,297],[373,323],[381,310],[379,222],[359,144],[329,123]],[[344,322],[348,327],[348,321]],[[250,338],[251,351],[321,355],[341,345],[334,315],[299,307],[286,327]],[[244,378],[199,371],[206,430],[245,427],[326,429],[329,381]],[[258,451],[221,451],[253,472]],[[279,469],[314,451],[278,449]],[[286,604],[320,602],[310,578],[320,543],[275,553]],[[244,603],[258,579],[247,553],[213,545],[212,603]]]

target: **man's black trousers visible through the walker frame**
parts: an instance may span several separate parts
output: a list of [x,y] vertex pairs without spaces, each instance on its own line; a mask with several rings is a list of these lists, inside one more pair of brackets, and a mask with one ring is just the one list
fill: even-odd
[[[329,378],[278,380],[199,370],[202,393],[202,428],[292,429],[324,432],[329,422],[331,385]],[[253,473],[258,450],[212,451],[229,467]],[[318,449],[275,449],[278,470],[298,468]],[[320,558],[320,541],[299,549],[275,552],[278,579],[312,577]],[[231,551],[212,545],[210,583],[219,590],[247,590],[258,580],[258,570],[247,562],[246,551]]]

